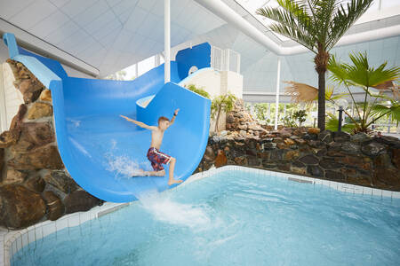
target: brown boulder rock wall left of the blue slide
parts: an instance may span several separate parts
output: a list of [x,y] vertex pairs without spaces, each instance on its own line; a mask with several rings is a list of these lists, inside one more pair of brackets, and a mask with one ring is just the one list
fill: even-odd
[[52,94],[21,63],[8,60],[24,104],[0,135],[0,226],[21,229],[102,204],[75,183],[55,142]]

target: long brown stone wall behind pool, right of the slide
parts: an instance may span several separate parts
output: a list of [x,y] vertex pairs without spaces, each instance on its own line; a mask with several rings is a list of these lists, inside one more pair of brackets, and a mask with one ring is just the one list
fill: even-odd
[[[196,171],[226,164],[400,191],[400,140],[298,128],[262,129],[240,102],[209,142]],[[242,106],[242,107],[241,107]]]

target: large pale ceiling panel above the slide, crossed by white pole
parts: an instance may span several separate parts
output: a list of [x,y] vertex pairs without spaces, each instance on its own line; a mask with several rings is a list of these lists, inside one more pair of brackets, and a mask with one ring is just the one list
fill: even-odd
[[[225,24],[194,0],[171,4],[172,46]],[[101,74],[164,51],[162,0],[0,0],[0,7],[3,19],[12,17],[8,21]]]

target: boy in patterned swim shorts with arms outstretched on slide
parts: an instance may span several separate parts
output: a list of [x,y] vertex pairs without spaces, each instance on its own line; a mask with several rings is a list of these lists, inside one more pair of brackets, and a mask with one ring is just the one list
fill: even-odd
[[148,149],[148,160],[150,160],[151,166],[153,167],[154,171],[141,170],[141,174],[139,176],[165,176],[163,163],[164,164],[170,163],[170,171],[169,171],[170,178],[168,180],[168,184],[172,185],[172,184],[182,183],[182,180],[173,179],[173,170],[175,168],[176,159],[171,157],[170,155],[159,152],[160,146],[163,142],[164,131],[173,124],[173,122],[175,121],[175,117],[177,116],[179,111],[180,109],[175,110],[171,121],[164,116],[158,118],[158,127],[148,126],[147,124],[141,121],[134,121],[124,115],[120,115],[127,121],[132,121],[132,123],[137,124],[143,129],[151,130],[151,145],[150,148]]

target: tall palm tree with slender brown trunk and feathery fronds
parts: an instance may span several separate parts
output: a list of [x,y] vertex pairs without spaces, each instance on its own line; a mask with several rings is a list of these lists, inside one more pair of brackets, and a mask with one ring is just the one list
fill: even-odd
[[329,51],[373,0],[277,0],[277,8],[257,14],[275,20],[269,28],[316,53],[318,74],[318,128],[325,129],[325,72]]

